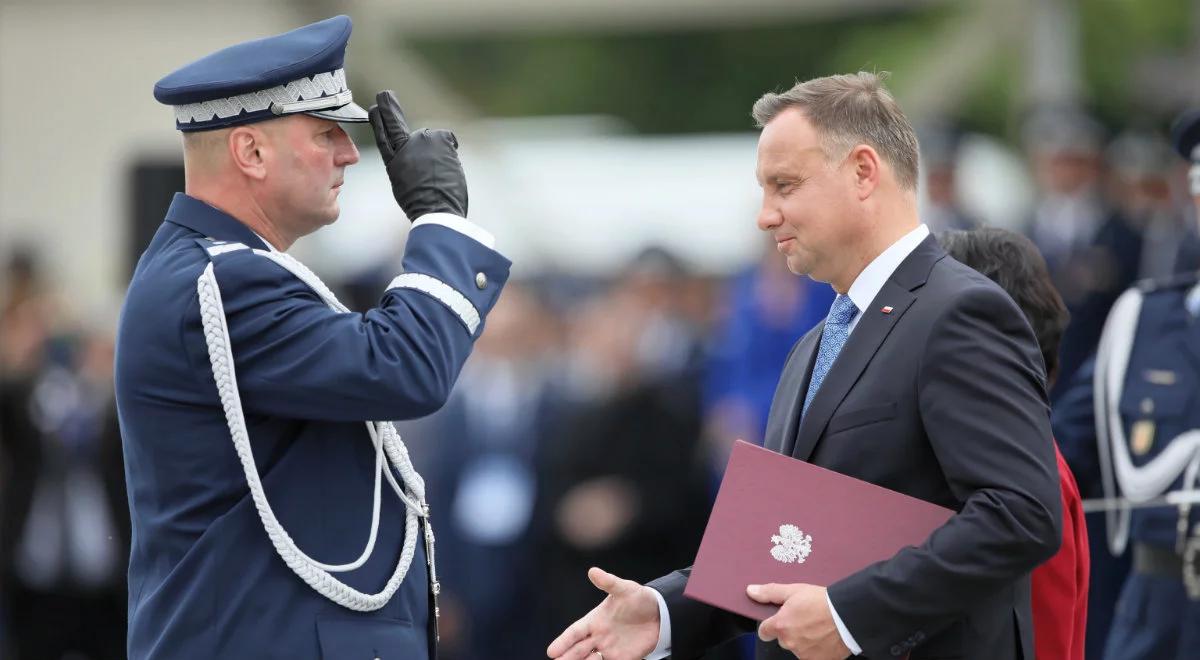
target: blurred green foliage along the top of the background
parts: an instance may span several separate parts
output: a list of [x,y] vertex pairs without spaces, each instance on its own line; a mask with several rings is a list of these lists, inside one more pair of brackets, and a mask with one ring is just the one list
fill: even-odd
[[[982,0],[1003,1],[1003,0]],[[1133,62],[1182,53],[1193,0],[1080,0],[1087,100],[1123,122],[1140,109]],[[904,89],[916,66],[967,4],[923,5],[800,24],[726,30],[518,34],[412,38],[407,43],[490,116],[607,114],[646,133],[743,131],[750,106],[796,79],[856,70],[890,71]],[[1026,62],[1014,43],[966,90],[965,126],[1013,134]],[[1162,118],[1156,118],[1162,119]]]

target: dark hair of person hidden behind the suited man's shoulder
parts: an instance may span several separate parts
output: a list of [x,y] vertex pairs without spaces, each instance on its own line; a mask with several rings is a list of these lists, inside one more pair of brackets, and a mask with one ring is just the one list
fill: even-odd
[[937,242],[950,257],[1000,284],[1016,302],[1042,348],[1046,386],[1052,385],[1058,376],[1058,346],[1070,314],[1033,241],[1007,229],[982,227],[942,232]]

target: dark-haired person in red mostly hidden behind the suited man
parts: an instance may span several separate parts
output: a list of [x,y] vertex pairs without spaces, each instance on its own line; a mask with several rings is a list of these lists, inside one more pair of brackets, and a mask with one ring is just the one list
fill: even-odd
[[[1020,234],[994,227],[943,232],[937,242],[947,254],[986,275],[1012,296],[1042,348],[1046,383],[1054,383],[1058,343],[1069,317],[1038,248]],[[1037,658],[1084,660],[1091,563],[1087,528],[1079,485],[1057,445],[1055,460],[1062,492],[1062,546],[1033,569],[1033,643]]]

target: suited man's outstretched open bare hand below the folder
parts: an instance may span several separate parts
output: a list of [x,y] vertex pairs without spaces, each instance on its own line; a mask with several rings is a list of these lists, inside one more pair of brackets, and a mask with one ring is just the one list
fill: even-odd
[[646,658],[659,643],[659,602],[650,588],[596,568],[588,570],[588,580],[607,596],[551,642],[546,655],[562,660]]

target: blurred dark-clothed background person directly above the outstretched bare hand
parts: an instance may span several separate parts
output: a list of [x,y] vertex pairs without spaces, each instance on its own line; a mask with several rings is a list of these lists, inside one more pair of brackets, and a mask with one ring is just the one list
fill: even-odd
[[[650,580],[690,563],[710,509],[701,440],[698,335],[674,306],[684,264],[638,254],[575,317],[570,347],[589,398],[546,449],[545,617],[557,632],[595,602],[589,566]],[[544,640],[545,642],[545,640]],[[709,658],[737,658],[736,648]]]

